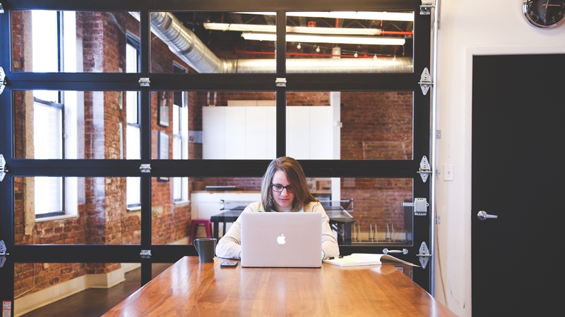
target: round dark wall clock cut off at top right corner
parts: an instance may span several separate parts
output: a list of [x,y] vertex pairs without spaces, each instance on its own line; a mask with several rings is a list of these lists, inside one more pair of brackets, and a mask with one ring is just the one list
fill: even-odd
[[523,12],[535,27],[555,27],[564,21],[565,0],[524,0]]

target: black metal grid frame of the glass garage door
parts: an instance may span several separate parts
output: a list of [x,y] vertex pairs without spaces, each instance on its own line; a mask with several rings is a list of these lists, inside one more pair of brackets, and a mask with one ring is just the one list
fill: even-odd
[[[192,246],[154,245],[151,242],[151,178],[162,177],[257,177],[260,178],[268,160],[158,160],[151,158],[150,129],[141,129],[140,160],[41,160],[13,159],[12,91],[25,89],[57,90],[121,90],[140,92],[141,127],[150,127],[150,92],[160,90],[244,90],[270,91],[276,94],[277,156],[285,155],[285,104],[288,91],[407,91],[414,92],[413,154],[406,161],[359,160],[302,160],[302,166],[311,177],[338,178],[413,178],[414,197],[429,201],[430,181],[422,182],[417,170],[422,156],[430,152],[430,94],[424,95],[419,85],[424,68],[430,69],[431,18],[420,15],[418,0],[358,0],[355,3],[337,0],[316,1],[194,1],[194,0],[8,0],[2,1],[5,13],[0,14],[0,66],[4,68],[7,85],[0,95],[0,154],[6,159],[9,172],[0,182],[0,240],[6,243],[6,263],[0,268],[0,299],[13,300],[14,263],[37,262],[95,262],[141,263],[142,285],[151,279],[151,263],[173,263],[180,257],[196,256]],[[31,9],[72,11],[139,11],[141,14],[140,72],[139,73],[24,73],[11,72],[10,11]],[[285,54],[277,54],[277,69],[273,74],[179,74],[150,73],[150,11],[273,11],[277,20],[285,19],[285,11],[415,11],[414,73],[395,74],[287,74]],[[277,32],[285,34],[284,23],[278,23]],[[279,36],[278,39],[284,39]],[[277,52],[285,52],[283,40],[276,43]],[[150,77],[150,87],[139,87],[139,77]],[[275,79],[285,77],[287,87],[275,87]],[[431,161],[431,160],[430,160]],[[140,173],[141,163],[150,163],[151,173]],[[26,176],[67,177],[126,177],[141,178],[141,244],[139,245],[14,245],[13,243],[13,178]],[[399,258],[416,262],[422,241],[430,245],[433,221],[428,216],[414,218],[415,245],[410,257]],[[150,259],[142,259],[141,250],[150,249]],[[340,246],[342,254],[354,252],[382,253],[382,247]],[[395,254],[396,256],[396,254]],[[431,266],[431,265],[430,265]],[[429,290],[430,266],[414,270],[414,280]]]

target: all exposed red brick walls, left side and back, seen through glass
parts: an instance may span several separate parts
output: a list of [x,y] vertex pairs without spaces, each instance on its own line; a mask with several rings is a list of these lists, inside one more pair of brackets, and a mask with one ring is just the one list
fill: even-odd
[[[83,12],[77,17],[78,35],[83,36],[85,72],[115,73],[125,69],[126,30],[138,35],[138,22],[128,13]],[[29,23],[23,11],[12,12],[13,67],[25,69],[30,56]],[[88,30],[88,32],[86,31]],[[26,39],[28,39],[26,41]],[[152,71],[172,72],[172,63],[182,64],[158,39],[152,40]],[[26,46],[27,45],[27,46]],[[26,48],[27,47],[27,48]],[[95,58],[103,56],[103,58]],[[29,61],[27,61],[29,63]],[[190,69],[188,66],[186,68]],[[191,71],[191,70],[190,70]],[[119,159],[119,123],[126,126],[126,105],[119,108],[121,92],[85,92],[85,159]],[[102,103],[93,102],[102,97]],[[189,130],[201,131],[201,107],[211,104],[208,92],[189,92]],[[289,92],[287,104],[297,106],[328,105],[329,92]],[[169,96],[172,104],[172,95]],[[274,92],[218,92],[215,103],[227,100],[273,100]],[[29,92],[14,92],[14,132],[17,158],[31,158],[32,125]],[[124,100],[125,102],[125,100]],[[341,95],[343,123],[342,159],[407,159],[412,149],[412,96],[404,92],[343,92]],[[157,125],[157,94],[151,96],[152,156],[157,153],[158,131],[172,135],[172,125]],[[104,118],[98,122],[95,118]],[[172,113],[169,113],[172,118]],[[27,119],[26,119],[27,118]],[[170,119],[169,118],[169,119]],[[126,140],[125,129],[122,135]],[[172,142],[169,144],[172,153]],[[191,159],[200,159],[202,147],[189,143]],[[103,157],[96,157],[101,154]],[[259,190],[260,178],[207,178],[206,185],[237,183],[246,190]],[[126,211],[125,178],[85,178],[83,200],[78,217],[40,223],[27,221],[33,209],[26,206],[32,197],[32,182],[15,178],[14,227],[16,244],[138,244],[141,216],[139,211]],[[187,236],[190,206],[172,204],[172,182],[153,180],[152,239],[165,244]],[[403,213],[398,206],[411,198],[412,185],[396,179],[342,179],[341,199],[354,198],[356,223],[367,230],[369,223],[382,226],[393,223],[403,230]],[[29,198],[28,198],[29,200]],[[32,206],[32,205],[31,205]],[[381,229],[379,229],[381,230]],[[37,292],[50,285],[87,273],[108,273],[119,268],[117,263],[23,263],[16,265],[16,297]]]

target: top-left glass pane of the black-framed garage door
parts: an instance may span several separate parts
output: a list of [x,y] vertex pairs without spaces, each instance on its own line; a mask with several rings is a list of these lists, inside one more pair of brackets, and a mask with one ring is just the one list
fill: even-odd
[[[139,22],[134,15],[138,13],[11,11],[13,70],[130,71],[126,66],[126,34],[139,36]],[[24,58],[29,54],[32,58]]]

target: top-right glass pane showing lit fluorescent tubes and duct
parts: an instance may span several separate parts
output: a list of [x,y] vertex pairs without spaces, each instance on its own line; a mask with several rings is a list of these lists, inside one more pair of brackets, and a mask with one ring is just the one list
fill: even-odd
[[287,12],[286,25],[287,73],[412,73],[413,12]]

